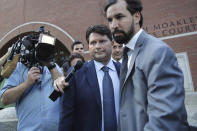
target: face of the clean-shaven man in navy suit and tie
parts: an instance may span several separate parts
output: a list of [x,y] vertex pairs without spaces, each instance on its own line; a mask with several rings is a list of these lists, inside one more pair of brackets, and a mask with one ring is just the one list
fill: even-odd
[[106,35],[91,33],[89,36],[89,52],[95,61],[106,65],[111,58],[111,40]]

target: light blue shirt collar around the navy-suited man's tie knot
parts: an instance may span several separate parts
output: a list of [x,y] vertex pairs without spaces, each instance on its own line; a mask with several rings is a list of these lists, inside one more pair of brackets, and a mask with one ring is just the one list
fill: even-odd
[[[104,66],[102,63],[100,63],[98,61],[95,61],[95,60],[94,60],[94,64],[95,64],[96,72],[100,71],[101,68]],[[110,61],[108,62],[108,64],[106,66],[109,67],[109,69],[112,70],[112,71],[116,70],[112,59],[110,59]]]

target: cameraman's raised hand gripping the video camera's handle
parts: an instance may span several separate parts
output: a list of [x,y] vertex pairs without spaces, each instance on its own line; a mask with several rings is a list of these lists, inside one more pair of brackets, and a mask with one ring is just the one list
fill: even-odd
[[27,74],[27,85],[31,86],[38,79],[40,79],[40,69],[37,67],[32,67]]

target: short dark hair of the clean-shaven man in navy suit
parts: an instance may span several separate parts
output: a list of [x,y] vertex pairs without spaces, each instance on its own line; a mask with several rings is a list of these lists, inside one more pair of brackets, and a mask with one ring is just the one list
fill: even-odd
[[86,41],[89,44],[89,36],[91,33],[98,33],[100,35],[106,35],[112,41],[112,34],[110,29],[106,25],[94,25],[90,26],[86,31]]

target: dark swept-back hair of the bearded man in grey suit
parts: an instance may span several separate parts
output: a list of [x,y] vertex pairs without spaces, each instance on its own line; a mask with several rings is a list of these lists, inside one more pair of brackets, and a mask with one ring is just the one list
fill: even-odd
[[[104,12],[106,14],[107,9],[117,3],[117,0],[107,0],[107,3],[104,7]],[[127,10],[130,12],[131,15],[134,15],[135,13],[139,12],[140,13],[140,21],[139,21],[139,25],[140,27],[142,27],[143,25],[143,16],[142,16],[142,2],[141,0],[125,0],[125,2],[127,3]]]

